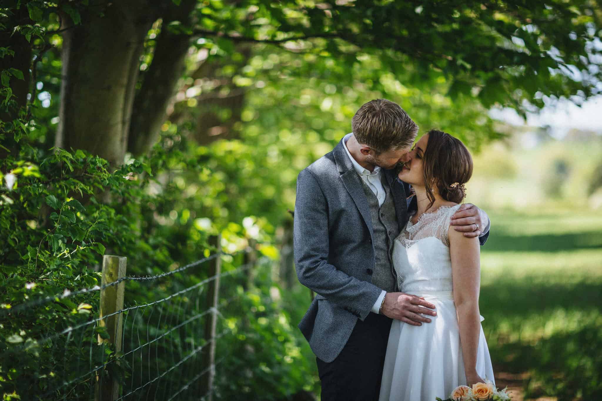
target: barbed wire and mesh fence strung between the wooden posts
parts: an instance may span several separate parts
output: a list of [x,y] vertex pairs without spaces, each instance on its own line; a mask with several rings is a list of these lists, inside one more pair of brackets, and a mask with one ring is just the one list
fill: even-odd
[[[164,274],[150,277],[123,277],[106,286],[64,292],[61,295],[62,298],[58,299],[101,290],[123,281],[159,280],[202,263],[210,262],[217,257],[233,257],[241,252],[235,254],[216,253]],[[32,384],[36,384],[36,387],[42,389],[42,391],[33,393],[36,399],[100,399],[102,394],[98,394],[96,381],[100,377],[106,378],[107,374],[110,374],[111,377],[121,377],[123,395],[116,400],[173,400],[176,397],[182,399],[181,397],[191,390],[195,391],[193,391],[194,394],[190,395],[190,399],[209,399],[213,394],[213,388],[206,389],[204,393],[200,393],[203,396],[199,397],[199,391],[197,391],[197,388],[200,387],[199,380],[209,373],[213,372],[215,374],[216,366],[222,363],[225,357],[210,366],[203,366],[199,354],[202,354],[203,350],[206,350],[206,347],[211,343],[215,344],[220,338],[233,333],[231,329],[225,329],[213,338],[208,340],[203,338],[205,337],[205,327],[202,324],[203,317],[214,314],[220,317],[220,320],[225,319],[220,309],[231,305],[235,299],[240,297],[240,294],[227,299],[220,298],[221,304],[219,307],[210,306],[205,308],[202,307],[203,301],[200,299],[202,298],[201,295],[205,294],[202,287],[217,280],[217,278],[231,277],[253,266],[253,263],[247,263],[205,278],[192,286],[161,299],[125,307],[114,313],[69,326],[60,332],[43,336],[38,340],[25,341],[22,344],[7,347],[4,353],[1,354],[2,359],[24,358],[23,355],[37,356],[41,349],[50,349],[49,352],[54,355],[52,352],[57,352],[57,346],[63,349],[63,355],[58,355],[58,357],[62,356],[61,363],[57,363],[58,357],[54,358],[54,366],[50,367],[52,369],[49,375],[51,378],[42,377],[45,375],[37,375],[37,377],[31,378]],[[46,297],[28,302],[25,305],[17,305],[17,307],[8,310],[8,313],[28,310],[56,300],[57,296]],[[178,301],[177,306],[175,305],[176,302],[173,301]],[[158,317],[154,316],[157,309]],[[149,311],[148,316],[145,316],[146,311]],[[123,351],[120,354],[114,354],[100,338],[98,340],[96,338],[102,321],[117,314],[123,314],[121,338]],[[144,329],[145,324],[146,328]],[[142,332],[141,328],[143,329]],[[126,332],[129,333],[127,336]],[[64,347],[61,341],[64,341]],[[158,358],[159,355],[164,359]],[[180,357],[176,358],[177,355]],[[183,357],[181,357],[182,355]],[[82,366],[84,360],[87,360],[87,363],[83,364],[87,364],[87,368]],[[82,370],[85,370],[85,373],[79,373]],[[175,375],[176,372],[199,373],[188,380],[190,376],[185,375],[185,373]],[[128,373],[131,376],[130,379],[126,378]],[[53,377],[54,379],[52,379]]]

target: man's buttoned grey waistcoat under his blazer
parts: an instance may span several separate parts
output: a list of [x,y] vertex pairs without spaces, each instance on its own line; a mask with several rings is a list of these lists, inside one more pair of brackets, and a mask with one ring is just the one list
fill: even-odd
[[397,291],[397,277],[393,269],[393,241],[399,234],[395,204],[391,188],[380,174],[380,182],[385,189],[385,201],[379,206],[378,199],[370,187],[362,181],[364,192],[370,206],[372,216],[372,228],[374,230],[374,271],[372,273],[372,284],[386,290],[386,292]]

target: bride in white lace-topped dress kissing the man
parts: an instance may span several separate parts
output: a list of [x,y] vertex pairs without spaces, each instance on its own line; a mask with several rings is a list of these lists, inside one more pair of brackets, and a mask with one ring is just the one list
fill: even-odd
[[379,399],[435,401],[458,385],[494,381],[479,314],[479,239],[450,229],[473,161],[439,130],[420,138],[409,158],[399,179],[415,189],[418,211],[395,240],[393,266],[400,291],[434,304],[436,316],[421,326],[393,320]]

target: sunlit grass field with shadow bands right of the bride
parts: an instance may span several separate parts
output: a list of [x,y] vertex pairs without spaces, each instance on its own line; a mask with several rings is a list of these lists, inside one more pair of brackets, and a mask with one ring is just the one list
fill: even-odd
[[602,399],[602,213],[491,219],[479,304],[498,385]]

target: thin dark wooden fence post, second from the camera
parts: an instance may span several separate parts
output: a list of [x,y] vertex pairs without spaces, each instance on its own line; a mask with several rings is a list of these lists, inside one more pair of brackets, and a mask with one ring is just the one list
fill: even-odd
[[[222,236],[212,236],[209,238],[209,243],[216,247],[217,252],[222,252],[221,246]],[[201,378],[201,393],[200,397],[205,396],[206,400],[213,400],[213,380],[216,376],[216,331],[217,331],[217,301],[219,299],[220,290],[220,272],[222,271],[222,258],[217,257],[209,264],[207,271],[208,277],[216,276],[215,280],[209,281],[207,290],[207,305],[213,308],[208,314],[208,319],[205,320],[205,340],[206,345],[201,350],[202,370],[209,369],[208,372]]]

